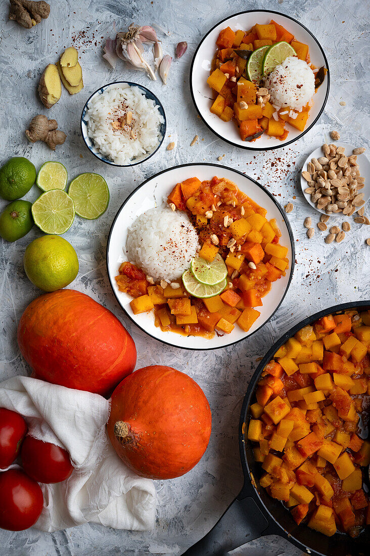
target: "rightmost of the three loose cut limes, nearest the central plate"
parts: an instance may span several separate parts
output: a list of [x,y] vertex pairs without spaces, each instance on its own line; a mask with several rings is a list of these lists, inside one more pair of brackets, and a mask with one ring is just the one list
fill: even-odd
[[68,189],[75,203],[78,216],[95,220],[107,210],[109,190],[104,178],[94,173],[84,173],[72,180]]

